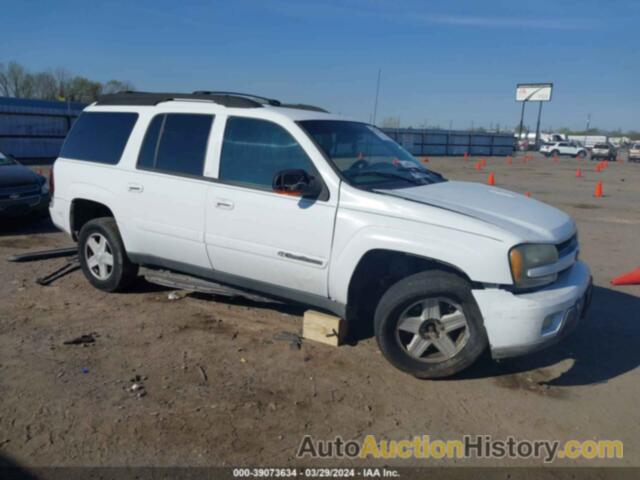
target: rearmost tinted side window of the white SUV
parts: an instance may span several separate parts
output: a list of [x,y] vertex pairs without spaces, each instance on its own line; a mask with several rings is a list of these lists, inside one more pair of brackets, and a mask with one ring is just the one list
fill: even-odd
[[73,124],[60,156],[115,165],[137,119],[130,112],[85,112]]

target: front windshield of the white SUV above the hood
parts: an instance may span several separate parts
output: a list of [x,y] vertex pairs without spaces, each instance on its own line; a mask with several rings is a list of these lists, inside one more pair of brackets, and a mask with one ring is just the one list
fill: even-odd
[[340,120],[306,120],[300,125],[352,185],[398,188],[444,181],[372,125]]

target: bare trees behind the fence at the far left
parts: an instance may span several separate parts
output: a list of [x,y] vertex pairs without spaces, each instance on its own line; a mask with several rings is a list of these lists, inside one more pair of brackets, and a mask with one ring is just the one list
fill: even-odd
[[105,93],[133,90],[128,81],[101,83],[64,68],[30,72],[17,62],[0,62],[0,96],[90,103]]

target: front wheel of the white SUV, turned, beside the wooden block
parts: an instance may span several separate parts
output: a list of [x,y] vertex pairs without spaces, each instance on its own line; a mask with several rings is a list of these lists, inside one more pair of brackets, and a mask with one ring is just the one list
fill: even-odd
[[[455,327],[462,323],[460,314],[464,326]],[[418,378],[458,373],[488,346],[471,286],[440,270],[416,273],[390,287],[376,309],[374,329],[385,358]]]

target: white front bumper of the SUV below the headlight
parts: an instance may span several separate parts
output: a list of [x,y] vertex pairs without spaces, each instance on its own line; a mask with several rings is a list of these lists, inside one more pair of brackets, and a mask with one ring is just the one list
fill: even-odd
[[489,337],[491,355],[514,357],[557,342],[584,317],[591,292],[591,273],[583,262],[576,262],[552,285],[535,292],[473,290]]

